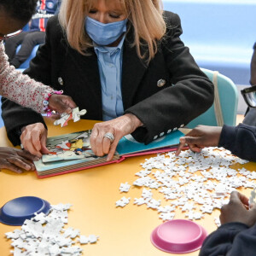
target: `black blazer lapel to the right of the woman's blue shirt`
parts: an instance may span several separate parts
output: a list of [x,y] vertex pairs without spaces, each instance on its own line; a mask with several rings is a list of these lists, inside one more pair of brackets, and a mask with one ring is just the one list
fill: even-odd
[[[128,32],[131,35],[131,31]],[[131,48],[131,40],[125,39],[122,67],[122,97],[124,109],[131,107],[133,96],[147,70],[147,64],[137,56],[136,47]]]

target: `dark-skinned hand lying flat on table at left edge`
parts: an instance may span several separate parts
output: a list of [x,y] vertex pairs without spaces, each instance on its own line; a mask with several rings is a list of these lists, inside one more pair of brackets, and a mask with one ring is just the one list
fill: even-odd
[[9,169],[13,172],[21,173],[21,169],[34,171],[35,166],[32,160],[38,160],[38,157],[17,148],[0,148],[0,169]]

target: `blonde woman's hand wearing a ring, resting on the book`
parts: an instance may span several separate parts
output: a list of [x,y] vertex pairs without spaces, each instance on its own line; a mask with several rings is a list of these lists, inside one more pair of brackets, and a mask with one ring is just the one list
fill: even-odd
[[[141,120],[132,113],[125,113],[119,118],[97,123],[94,125],[90,135],[91,149],[97,156],[108,154],[107,160],[112,160],[120,138],[130,134],[142,125]],[[113,134],[113,142],[108,137],[104,137],[108,132]]]

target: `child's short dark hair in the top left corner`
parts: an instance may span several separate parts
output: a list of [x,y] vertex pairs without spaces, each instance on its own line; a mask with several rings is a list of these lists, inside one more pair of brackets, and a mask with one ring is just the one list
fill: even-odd
[[38,0],[0,0],[0,9],[15,20],[28,21],[36,11]]

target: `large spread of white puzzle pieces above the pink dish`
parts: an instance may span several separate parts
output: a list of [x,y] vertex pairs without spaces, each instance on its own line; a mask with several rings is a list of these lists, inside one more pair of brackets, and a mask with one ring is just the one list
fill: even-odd
[[[230,193],[239,188],[254,188],[256,172],[247,171],[244,167],[238,171],[230,168],[235,163],[245,164],[222,148],[204,148],[201,154],[190,150],[183,151],[179,156],[174,152],[158,154],[146,159],[137,172],[134,186],[143,188],[140,198],[133,203],[137,206],[146,205],[157,210],[159,218],[171,220],[175,218],[177,208],[181,209],[184,218],[190,220],[204,218],[214,209],[220,209],[229,202]],[[131,185],[121,183],[119,191],[128,193]],[[156,200],[154,193],[164,195],[165,201]],[[254,197],[250,199],[253,201]],[[160,198],[160,195],[156,196]],[[125,207],[131,197],[123,196],[116,201],[116,207]],[[218,218],[215,223],[219,225]]]

